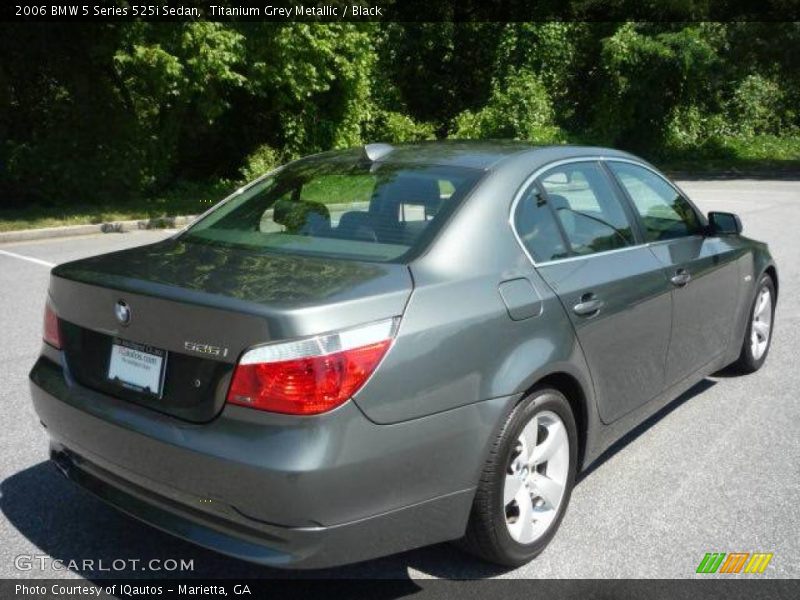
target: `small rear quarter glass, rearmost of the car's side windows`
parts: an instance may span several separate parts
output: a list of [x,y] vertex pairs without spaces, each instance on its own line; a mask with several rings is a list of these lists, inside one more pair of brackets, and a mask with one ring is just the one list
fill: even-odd
[[555,260],[568,255],[553,213],[536,186],[531,186],[519,201],[514,214],[514,226],[522,243],[536,262]]

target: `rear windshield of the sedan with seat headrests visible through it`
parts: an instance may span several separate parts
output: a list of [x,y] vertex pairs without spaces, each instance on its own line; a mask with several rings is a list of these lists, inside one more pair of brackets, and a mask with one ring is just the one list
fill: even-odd
[[181,239],[400,262],[427,245],[480,175],[451,166],[293,163],[233,196]]

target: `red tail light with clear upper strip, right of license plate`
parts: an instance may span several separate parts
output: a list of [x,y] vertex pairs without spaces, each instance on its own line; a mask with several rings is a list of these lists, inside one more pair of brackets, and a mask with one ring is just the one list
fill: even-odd
[[398,323],[399,319],[387,319],[248,350],[236,365],[228,402],[291,415],[336,408],[375,371]]

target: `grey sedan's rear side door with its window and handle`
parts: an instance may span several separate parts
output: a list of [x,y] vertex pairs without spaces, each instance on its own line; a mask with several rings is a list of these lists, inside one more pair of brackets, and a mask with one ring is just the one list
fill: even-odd
[[[564,239],[563,251],[537,261],[537,270],[575,327],[600,415],[609,423],[663,390],[669,283],[662,265],[641,243],[630,207],[599,163],[554,166],[535,185],[537,193],[524,194],[521,203],[536,204],[539,211],[547,205]],[[517,216],[520,239],[535,257],[541,227],[526,231],[524,223]]]

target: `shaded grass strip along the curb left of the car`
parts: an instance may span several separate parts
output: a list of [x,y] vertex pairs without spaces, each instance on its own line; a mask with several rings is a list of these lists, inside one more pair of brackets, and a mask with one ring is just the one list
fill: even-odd
[[180,182],[151,198],[107,204],[41,205],[0,209],[0,231],[157,219],[200,214],[236,189],[230,181]]

